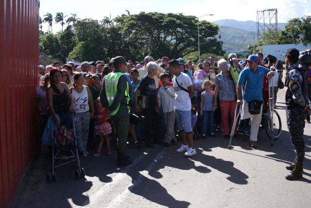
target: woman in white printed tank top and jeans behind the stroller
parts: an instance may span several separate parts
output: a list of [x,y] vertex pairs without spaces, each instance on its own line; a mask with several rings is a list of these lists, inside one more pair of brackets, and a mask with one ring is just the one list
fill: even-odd
[[[91,91],[83,85],[84,75],[75,74],[73,77],[73,87],[70,88],[75,108],[75,115],[71,114],[71,120],[75,125],[77,146],[83,156],[87,156],[86,144],[90,118],[94,117],[94,102]],[[90,112],[91,110],[91,112]]]

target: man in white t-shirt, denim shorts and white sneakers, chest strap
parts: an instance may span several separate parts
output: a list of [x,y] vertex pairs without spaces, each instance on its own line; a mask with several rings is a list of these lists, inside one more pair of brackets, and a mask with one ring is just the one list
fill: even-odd
[[[191,100],[194,95],[194,88],[188,75],[179,71],[179,62],[176,59],[169,61],[170,74],[173,77],[173,87],[175,90],[175,116],[177,121],[177,129],[182,139],[182,145],[177,152],[185,152],[185,156],[193,156],[196,154],[191,127]],[[187,144],[187,138],[189,146]]]

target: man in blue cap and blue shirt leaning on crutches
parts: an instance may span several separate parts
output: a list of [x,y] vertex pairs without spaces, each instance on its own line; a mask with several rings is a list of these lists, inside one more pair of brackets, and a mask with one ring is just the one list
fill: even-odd
[[[250,55],[246,60],[248,67],[242,70],[238,79],[237,104],[242,105],[241,119],[251,118],[250,146],[257,148],[257,135],[262,113],[262,80],[265,75],[271,79],[274,72],[258,66],[259,58],[256,55]],[[242,89],[242,85],[245,85],[246,81],[247,86]]]

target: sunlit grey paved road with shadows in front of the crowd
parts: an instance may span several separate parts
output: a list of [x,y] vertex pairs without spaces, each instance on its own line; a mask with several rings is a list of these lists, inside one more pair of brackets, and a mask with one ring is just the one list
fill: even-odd
[[[213,138],[195,140],[197,155],[186,158],[175,150],[156,145],[155,149],[127,151],[134,163],[116,166],[116,151],[111,156],[81,158],[85,180],[74,179],[73,169],[57,170],[58,180],[45,181],[49,170],[49,151],[43,149],[31,170],[17,208],[146,208],[146,207],[258,207],[309,208],[311,205],[311,124],[306,124],[304,178],[287,181],[285,165],[294,159],[286,127],[285,89],[280,90],[277,112],[282,119],[282,134],[270,145],[264,130],[259,132],[259,148],[249,147],[248,138],[228,139],[221,132]],[[90,153],[93,153],[90,152]]]

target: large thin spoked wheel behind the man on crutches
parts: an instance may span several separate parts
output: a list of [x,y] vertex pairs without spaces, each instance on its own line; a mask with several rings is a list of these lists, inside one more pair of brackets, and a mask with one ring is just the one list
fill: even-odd
[[271,126],[271,119],[267,118],[265,120],[265,131],[269,138],[273,136],[273,139],[277,139],[282,132],[282,122],[280,115],[274,110],[273,111],[273,123]]

